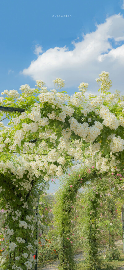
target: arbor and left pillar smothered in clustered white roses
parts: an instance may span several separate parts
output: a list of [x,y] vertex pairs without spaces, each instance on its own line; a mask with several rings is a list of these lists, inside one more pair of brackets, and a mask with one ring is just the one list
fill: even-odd
[[59,78],[54,80],[55,89],[49,92],[41,80],[37,80],[36,89],[22,85],[22,94],[16,90],[3,91],[0,105],[21,108],[24,112],[12,112],[9,116],[6,112],[10,122],[7,127],[1,123],[1,207],[5,215],[11,216],[11,223],[7,215],[3,225],[4,238],[10,237],[11,243],[3,243],[1,268],[8,270],[9,251],[14,258],[9,270],[32,268],[32,250],[38,244],[33,233],[36,221],[33,208],[37,201],[34,187],[38,183],[43,186],[44,182],[64,174],[73,158],[96,166],[100,172],[122,168],[124,102],[119,93],[107,92],[111,86],[108,75],[102,72],[97,79],[101,94],[90,94],[88,98],[84,95],[88,84],[81,83],[79,92],[70,97],[59,91],[64,87]]

